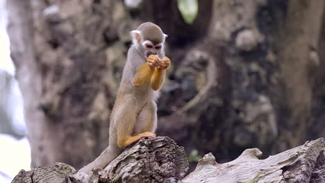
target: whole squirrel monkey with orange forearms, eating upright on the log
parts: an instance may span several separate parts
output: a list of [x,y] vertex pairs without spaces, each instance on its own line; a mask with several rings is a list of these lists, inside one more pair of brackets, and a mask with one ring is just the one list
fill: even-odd
[[110,145],[94,162],[79,172],[105,168],[122,150],[143,137],[156,137],[158,90],[170,65],[165,57],[167,35],[146,22],[131,31],[133,45],[128,55],[117,98],[110,116]]

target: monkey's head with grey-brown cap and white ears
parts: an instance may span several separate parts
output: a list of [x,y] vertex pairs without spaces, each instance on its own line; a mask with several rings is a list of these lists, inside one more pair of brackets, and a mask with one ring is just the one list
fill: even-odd
[[149,55],[158,55],[163,51],[163,46],[167,35],[156,24],[146,22],[131,31],[133,44],[138,46],[146,58]]

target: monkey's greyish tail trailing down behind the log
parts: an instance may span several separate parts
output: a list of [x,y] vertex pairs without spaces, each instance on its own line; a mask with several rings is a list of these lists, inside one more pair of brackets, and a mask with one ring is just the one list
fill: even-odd
[[97,157],[93,162],[90,164],[83,166],[78,172],[89,174],[90,171],[94,168],[105,168],[110,162],[119,155],[120,150],[118,148],[113,148],[113,146],[108,146],[103,152],[101,152],[101,155]]

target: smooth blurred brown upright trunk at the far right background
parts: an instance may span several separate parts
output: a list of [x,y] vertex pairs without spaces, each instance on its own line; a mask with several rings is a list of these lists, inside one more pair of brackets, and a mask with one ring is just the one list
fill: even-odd
[[308,135],[324,7],[323,0],[288,1],[285,19],[279,25],[278,37],[282,41],[276,43],[281,81],[278,145],[282,150],[297,146]]

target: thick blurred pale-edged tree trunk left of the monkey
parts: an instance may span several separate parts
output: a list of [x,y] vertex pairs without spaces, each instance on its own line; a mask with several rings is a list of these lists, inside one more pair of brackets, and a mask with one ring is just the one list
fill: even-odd
[[[8,1],[12,58],[24,96],[32,166],[81,167],[108,145],[110,105],[117,85],[106,60],[105,17],[118,1]],[[116,14],[116,12],[115,12]],[[116,20],[115,20],[116,21]],[[112,49],[110,49],[112,50]],[[78,149],[78,150],[76,150]]]

